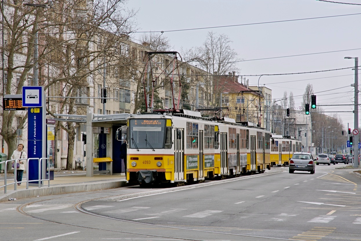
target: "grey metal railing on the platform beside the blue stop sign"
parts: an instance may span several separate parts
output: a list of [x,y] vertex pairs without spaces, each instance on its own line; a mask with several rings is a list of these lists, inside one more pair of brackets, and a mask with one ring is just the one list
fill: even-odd
[[[18,163],[20,160],[25,160],[26,161],[26,181],[21,181],[21,182],[26,182],[26,189],[29,189],[29,182],[38,182],[38,187],[41,188],[41,183],[43,181],[48,181],[48,187],[50,187],[50,168],[49,168],[49,158],[28,158],[28,159],[25,159],[25,158],[21,158],[21,159],[11,159],[11,160],[6,160],[6,161],[3,161],[3,162],[0,162],[0,164],[5,164],[5,168],[4,168],[4,185],[0,186],[0,188],[4,188],[4,193],[6,193],[6,189],[7,189],[7,186],[8,185],[12,185],[14,184],[14,191],[16,191],[16,188],[17,188],[17,184],[18,184],[18,181],[16,180],[16,176],[17,176],[17,168],[14,168],[14,181],[13,182],[10,182],[8,183],[8,163],[10,162],[14,162],[14,166],[16,166],[15,163]],[[42,179],[42,176],[41,176],[41,171],[38,171],[38,179],[36,180],[29,180],[29,161],[30,160],[37,160],[38,161],[38,170],[41,170],[41,165],[42,165],[42,162],[43,160],[45,160],[45,163],[46,163],[46,169],[45,170],[48,170],[48,178],[45,178],[46,177],[46,172],[45,172],[45,177],[44,179]],[[46,160],[48,160],[46,162]]]

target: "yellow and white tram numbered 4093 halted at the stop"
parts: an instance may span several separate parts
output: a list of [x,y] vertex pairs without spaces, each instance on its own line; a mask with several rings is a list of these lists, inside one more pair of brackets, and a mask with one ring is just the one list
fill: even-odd
[[233,119],[202,117],[197,111],[131,115],[126,141],[126,179],[141,185],[182,184],[271,167],[269,132]]

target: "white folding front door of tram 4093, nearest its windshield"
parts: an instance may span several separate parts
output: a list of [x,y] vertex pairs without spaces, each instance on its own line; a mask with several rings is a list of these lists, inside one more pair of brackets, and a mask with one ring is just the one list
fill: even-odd
[[[181,138],[175,138],[174,145],[174,180],[184,180],[184,129],[181,130]],[[174,130],[177,137],[177,130]]]

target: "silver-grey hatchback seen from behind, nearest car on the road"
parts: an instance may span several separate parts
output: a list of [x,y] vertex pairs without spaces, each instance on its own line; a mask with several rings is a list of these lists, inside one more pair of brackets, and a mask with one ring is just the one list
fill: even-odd
[[295,152],[290,158],[289,172],[307,171],[311,174],[315,173],[315,161],[313,156],[307,152]]

